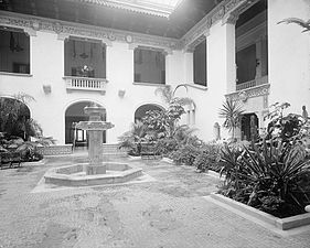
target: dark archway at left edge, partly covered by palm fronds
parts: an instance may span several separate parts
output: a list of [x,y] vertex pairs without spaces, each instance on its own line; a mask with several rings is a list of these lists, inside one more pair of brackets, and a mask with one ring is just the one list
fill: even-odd
[[36,130],[30,121],[30,109],[18,99],[0,97],[0,132],[9,137],[29,140],[30,136],[35,136]]

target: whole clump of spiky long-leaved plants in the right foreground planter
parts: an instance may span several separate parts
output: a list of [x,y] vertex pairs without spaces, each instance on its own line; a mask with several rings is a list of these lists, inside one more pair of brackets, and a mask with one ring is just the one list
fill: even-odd
[[300,184],[302,176],[310,175],[310,162],[301,145],[264,140],[261,147],[254,144],[252,149],[226,147],[222,151],[222,165],[221,174],[226,175],[229,188],[224,193],[229,195],[233,191],[234,198],[243,195],[242,202],[248,205],[267,209],[268,203],[279,207],[292,204],[302,209],[310,203],[309,194],[303,193],[309,182]]

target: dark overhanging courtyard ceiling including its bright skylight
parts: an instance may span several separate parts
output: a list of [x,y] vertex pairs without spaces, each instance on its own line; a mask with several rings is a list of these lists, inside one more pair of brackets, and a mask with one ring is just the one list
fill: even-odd
[[[180,39],[218,2],[221,0],[0,0],[0,10]],[[164,12],[168,15],[160,15]]]

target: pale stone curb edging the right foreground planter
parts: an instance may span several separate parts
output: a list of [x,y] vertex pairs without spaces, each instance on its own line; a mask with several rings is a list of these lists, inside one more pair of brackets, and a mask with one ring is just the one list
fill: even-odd
[[296,216],[291,216],[291,217],[287,217],[287,218],[278,218],[278,217],[275,217],[263,211],[258,211],[254,207],[247,206],[243,203],[236,202],[236,201],[228,198],[221,194],[213,193],[210,196],[215,202],[217,201],[224,205],[227,205],[227,208],[232,207],[238,212],[242,212],[246,215],[255,217],[255,218],[259,219],[260,222],[272,225],[281,230],[289,230],[289,229],[292,229],[296,227],[310,225],[310,213],[300,214],[300,215],[296,215]]

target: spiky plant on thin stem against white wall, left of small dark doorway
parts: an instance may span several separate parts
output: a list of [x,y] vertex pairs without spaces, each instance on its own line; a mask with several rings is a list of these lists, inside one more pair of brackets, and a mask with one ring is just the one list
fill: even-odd
[[243,107],[232,99],[226,99],[220,109],[220,117],[225,118],[223,123],[224,128],[232,131],[232,139],[235,139],[235,130],[240,126],[240,118],[244,114]]

